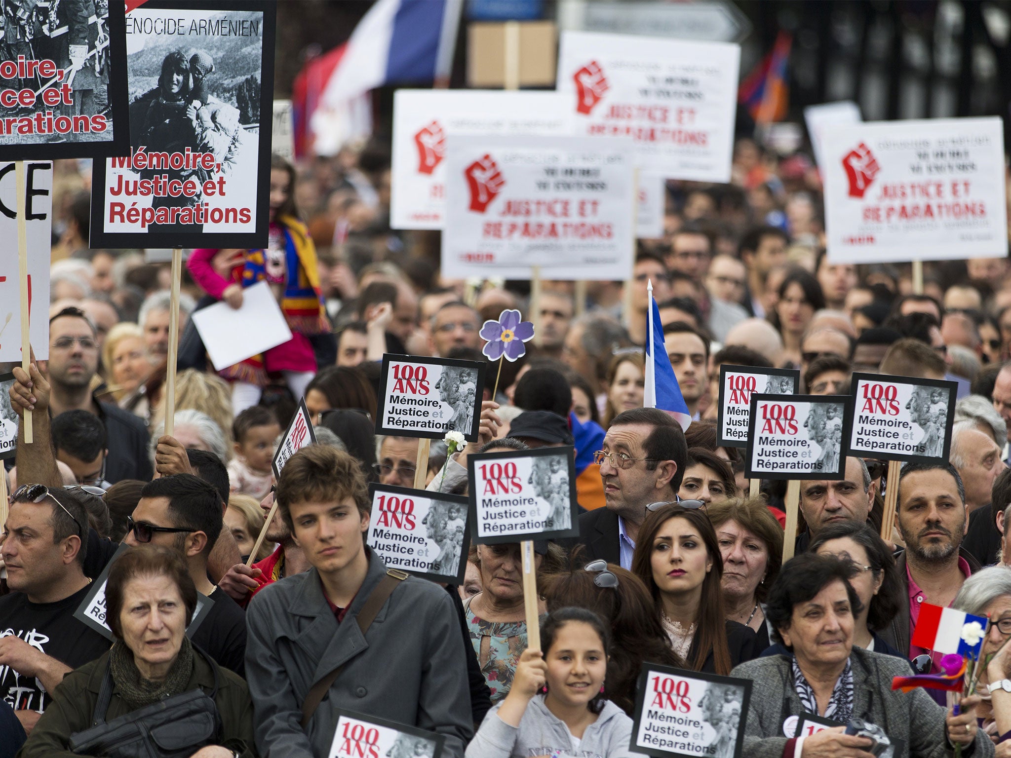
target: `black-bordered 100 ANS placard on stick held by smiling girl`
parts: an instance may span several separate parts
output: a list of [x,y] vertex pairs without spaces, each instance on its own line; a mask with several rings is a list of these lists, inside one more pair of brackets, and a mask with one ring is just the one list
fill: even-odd
[[475,545],[578,537],[571,446],[467,456]]

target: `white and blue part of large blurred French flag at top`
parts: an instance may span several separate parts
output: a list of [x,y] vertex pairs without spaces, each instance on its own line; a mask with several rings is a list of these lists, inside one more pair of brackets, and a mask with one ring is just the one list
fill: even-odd
[[387,84],[449,77],[463,0],[379,0],[358,22],[320,105],[340,108]]

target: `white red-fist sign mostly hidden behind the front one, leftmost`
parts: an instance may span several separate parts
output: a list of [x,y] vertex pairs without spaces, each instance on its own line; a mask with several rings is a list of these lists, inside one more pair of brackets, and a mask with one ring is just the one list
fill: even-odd
[[567,103],[555,92],[397,90],[390,226],[444,228],[447,135],[571,134],[572,111]]

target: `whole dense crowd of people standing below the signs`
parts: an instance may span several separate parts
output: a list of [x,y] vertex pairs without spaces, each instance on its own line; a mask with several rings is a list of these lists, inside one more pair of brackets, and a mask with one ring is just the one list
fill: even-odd
[[[878,725],[901,755],[1011,756],[1008,261],[928,264],[913,294],[909,267],[829,261],[804,155],[744,139],[733,165],[729,185],[667,183],[627,282],[544,282],[534,302],[526,281],[440,277],[437,232],[389,228],[379,145],[275,158],[268,248],[188,254],[166,435],[168,266],[90,250],[89,178],[57,162],[49,357],[8,392],[0,755],[137,755],[162,735],[195,758],[321,758],[353,712],[438,733],[446,756],[618,758],[649,662],[753,680],[746,713],[708,706],[740,720],[746,756],[869,755],[841,727],[785,728],[802,713]],[[215,372],[190,315],[261,281],[292,338]],[[647,282],[686,430],[643,407]],[[476,442],[426,462],[417,438],[376,437],[384,354],[484,361],[505,308],[536,335],[475,387]],[[949,460],[903,467],[884,531],[886,462],[803,481],[784,564],[786,482],[747,495],[742,451],[718,445],[725,364],[796,368],[825,395],[857,371],[952,380]],[[275,478],[303,397],[316,442]],[[370,483],[467,494],[469,456],[544,447],[574,449],[579,517],[534,543],[537,650],[519,545],[472,547],[442,586],[388,571],[365,534]],[[101,581],[105,634],[77,613]],[[891,688],[941,670],[911,642],[923,603],[992,621],[966,697]],[[158,704],[182,716],[151,722]],[[108,743],[122,724],[133,742]]]

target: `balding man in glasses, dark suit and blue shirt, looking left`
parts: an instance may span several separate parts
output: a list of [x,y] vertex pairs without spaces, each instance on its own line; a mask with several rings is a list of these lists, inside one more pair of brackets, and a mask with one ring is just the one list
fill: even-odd
[[672,502],[684,476],[684,433],[668,413],[632,408],[611,422],[594,459],[601,467],[605,507],[579,516],[586,560],[632,566],[639,528],[651,502]]

